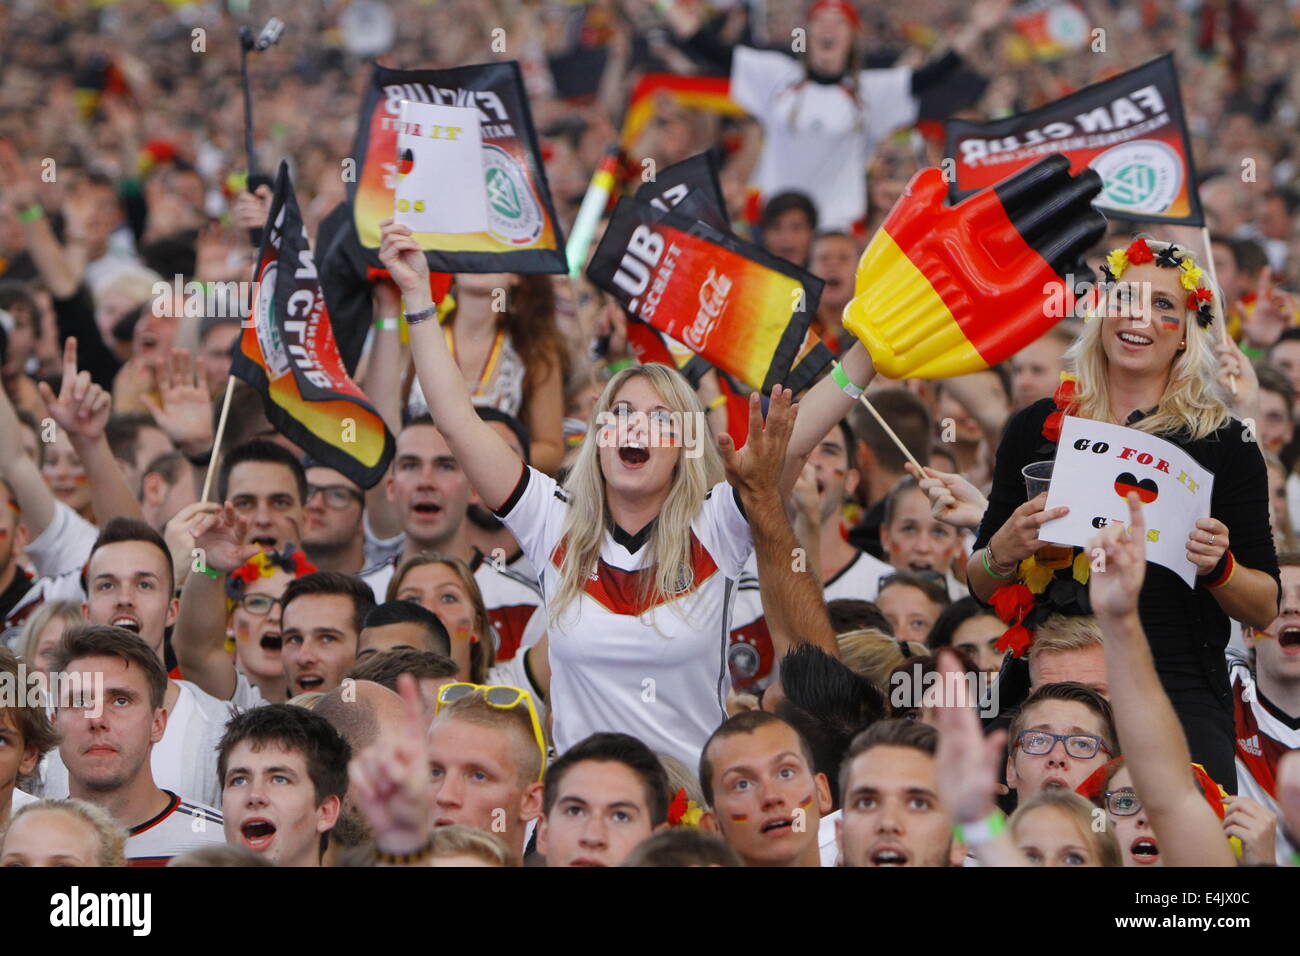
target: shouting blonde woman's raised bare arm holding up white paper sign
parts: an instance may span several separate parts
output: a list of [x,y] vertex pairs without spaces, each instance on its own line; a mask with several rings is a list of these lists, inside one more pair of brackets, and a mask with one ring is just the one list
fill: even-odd
[[447,351],[447,343],[434,317],[429,295],[429,264],[424,250],[412,238],[411,228],[393,220],[381,224],[380,260],[402,290],[407,315],[428,313],[411,324],[411,352],[429,414],[447,440],[469,483],[489,507],[500,507],[519,484],[524,467],[519,455],[497,432],[478,418],[469,401],[460,367]]

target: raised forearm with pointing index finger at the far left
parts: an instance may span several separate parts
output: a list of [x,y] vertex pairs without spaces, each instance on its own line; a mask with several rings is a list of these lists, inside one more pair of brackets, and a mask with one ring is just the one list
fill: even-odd
[[90,479],[90,501],[100,523],[109,518],[142,518],[140,502],[117,467],[104,437],[110,395],[91,381],[90,372],[77,371],[77,339],[64,342],[64,381],[58,395],[46,382],[36,386],[49,416],[68,433],[68,441]]

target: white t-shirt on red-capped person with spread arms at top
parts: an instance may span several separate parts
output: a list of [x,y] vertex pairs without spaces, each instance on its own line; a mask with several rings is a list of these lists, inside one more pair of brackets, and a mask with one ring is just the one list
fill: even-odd
[[894,130],[916,122],[913,72],[859,70],[857,90],[818,83],[794,59],[737,47],[731,98],[763,127],[755,182],[764,198],[811,196],[819,229],[848,229],[867,215],[867,163]]

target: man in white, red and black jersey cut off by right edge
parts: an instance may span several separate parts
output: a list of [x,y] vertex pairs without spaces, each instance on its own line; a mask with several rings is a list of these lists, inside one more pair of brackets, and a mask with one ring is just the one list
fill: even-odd
[[[1278,763],[1300,749],[1300,554],[1279,554],[1282,613],[1264,631],[1244,628],[1254,667],[1228,653],[1236,718],[1236,786],[1278,813]],[[1295,835],[1295,834],[1294,834]],[[1278,827],[1278,860],[1297,848]]]

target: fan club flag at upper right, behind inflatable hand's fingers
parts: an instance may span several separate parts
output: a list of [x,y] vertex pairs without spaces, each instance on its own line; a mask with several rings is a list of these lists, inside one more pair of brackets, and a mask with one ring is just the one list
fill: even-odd
[[1112,216],[1205,224],[1196,193],[1173,55],[1095,83],[1041,109],[994,122],[948,124],[953,202],[1060,152],[1102,181],[1095,206]]

